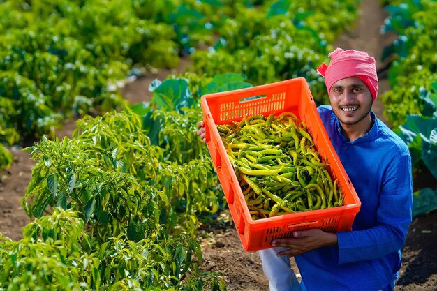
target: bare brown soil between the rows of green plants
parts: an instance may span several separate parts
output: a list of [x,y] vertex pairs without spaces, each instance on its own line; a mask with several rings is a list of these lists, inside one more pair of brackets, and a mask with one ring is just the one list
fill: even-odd
[[[380,35],[380,27],[387,16],[380,8],[380,1],[362,1],[360,19],[353,29],[344,33],[336,45],[343,49],[356,49],[380,56],[385,45],[392,43],[395,36]],[[387,64],[376,58],[380,77],[379,91],[390,89],[385,78]],[[188,59],[182,59],[182,64],[176,70],[156,70],[146,73],[134,82],[126,84],[122,94],[132,104],[147,101],[150,93],[147,87],[155,78],[164,80],[170,73],[182,72],[189,65]],[[376,115],[385,121],[383,107],[379,99],[373,106]],[[75,121],[66,121],[58,132],[59,137],[71,137],[75,129]],[[27,151],[13,147],[13,165],[8,170],[0,172],[0,232],[13,240],[22,238],[22,227],[29,223],[29,218],[21,207],[21,199],[26,192],[31,178],[34,161]],[[422,178],[423,179],[423,178]],[[434,179],[434,178],[429,178]],[[434,179],[435,181],[435,179]],[[437,188],[437,187],[435,187]],[[227,283],[228,290],[267,291],[268,282],[262,273],[262,264],[258,253],[246,252],[232,218],[228,211],[221,214],[221,225],[205,226],[202,234],[203,267],[209,271],[221,274]],[[226,222],[228,221],[228,222]],[[437,211],[415,218],[403,248],[403,265],[399,271],[397,291],[436,291],[437,290]],[[292,269],[299,274],[294,260]]]

